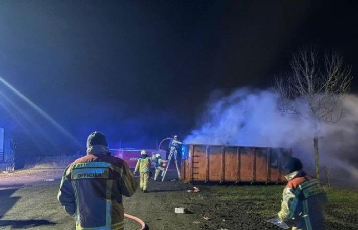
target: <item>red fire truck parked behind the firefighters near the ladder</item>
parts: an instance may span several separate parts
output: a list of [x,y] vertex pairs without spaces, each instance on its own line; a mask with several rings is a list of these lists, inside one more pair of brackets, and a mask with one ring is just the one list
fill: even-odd
[[[112,156],[116,156],[118,158],[123,159],[130,168],[136,167],[136,163],[138,158],[141,157],[141,151],[143,149],[135,149],[135,148],[122,148],[122,149],[111,149]],[[157,153],[161,154],[161,158],[166,160],[166,152],[162,149],[144,149],[147,152],[149,157],[155,155]],[[152,168],[154,168],[154,163],[152,163]]]

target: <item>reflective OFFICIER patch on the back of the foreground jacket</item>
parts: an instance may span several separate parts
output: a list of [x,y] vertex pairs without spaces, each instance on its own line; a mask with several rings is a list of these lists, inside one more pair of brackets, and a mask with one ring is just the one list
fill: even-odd
[[71,174],[72,180],[78,179],[108,179],[108,168],[80,168],[73,169]]

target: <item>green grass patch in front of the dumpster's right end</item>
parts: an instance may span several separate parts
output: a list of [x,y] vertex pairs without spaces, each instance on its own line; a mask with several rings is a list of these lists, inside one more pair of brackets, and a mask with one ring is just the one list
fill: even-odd
[[[222,202],[250,203],[255,213],[267,219],[280,210],[283,185],[210,186],[212,195]],[[357,226],[358,190],[327,189],[325,216],[330,226]]]

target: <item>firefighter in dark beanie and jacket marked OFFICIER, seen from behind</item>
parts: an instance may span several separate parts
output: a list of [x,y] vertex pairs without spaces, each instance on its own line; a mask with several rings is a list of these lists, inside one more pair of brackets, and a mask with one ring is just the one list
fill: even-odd
[[122,195],[132,196],[136,189],[127,163],[111,156],[106,137],[93,132],[87,139],[87,155],[65,169],[57,198],[75,217],[77,230],[122,230]]

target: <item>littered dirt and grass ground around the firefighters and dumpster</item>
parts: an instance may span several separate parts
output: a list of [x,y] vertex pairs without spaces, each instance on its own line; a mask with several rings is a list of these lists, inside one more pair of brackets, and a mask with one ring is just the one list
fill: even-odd
[[[38,175],[59,178],[62,173],[61,170],[31,172],[35,178]],[[174,177],[175,173],[169,173],[168,179]],[[14,181],[21,183],[15,185],[11,185],[9,179],[7,184],[4,181],[0,177],[0,229],[75,229],[74,219],[57,201],[59,179],[30,180],[30,184],[18,179]],[[141,218],[153,230],[278,229],[264,220],[274,217],[280,208],[281,185],[207,185],[199,186],[200,193],[188,193],[191,187],[177,180],[150,180],[149,193],[137,191],[132,197],[124,197],[125,212]],[[331,203],[327,229],[356,229],[358,214],[354,202],[358,200],[357,194],[355,190],[333,190],[328,194]],[[176,214],[175,207],[187,208],[190,213]],[[348,219],[345,218],[347,213]],[[125,229],[139,229],[139,226],[126,220]]]

